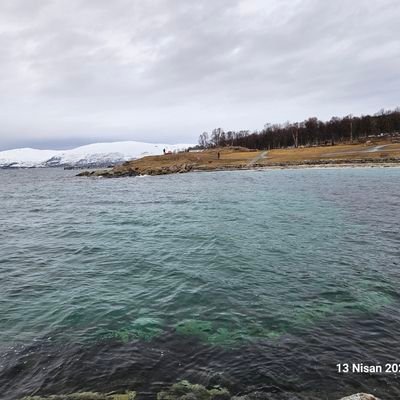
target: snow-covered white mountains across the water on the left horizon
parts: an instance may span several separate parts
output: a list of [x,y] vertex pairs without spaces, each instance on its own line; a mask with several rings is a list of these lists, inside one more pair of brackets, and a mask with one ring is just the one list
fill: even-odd
[[14,149],[0,151],[0,168],[106,167],[166,151],[184,150],[193,144],[143,142],[94,143],[71,150]]

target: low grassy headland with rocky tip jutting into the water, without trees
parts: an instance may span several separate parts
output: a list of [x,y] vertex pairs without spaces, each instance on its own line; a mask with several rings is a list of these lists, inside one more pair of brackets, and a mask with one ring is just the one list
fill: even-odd
[[190,171],[315,166],[400,166],[400,143],[377,139],[357,144],[273,150],[217,147],[143,157],[111,169],[83,171],[78,176],[124,177]]

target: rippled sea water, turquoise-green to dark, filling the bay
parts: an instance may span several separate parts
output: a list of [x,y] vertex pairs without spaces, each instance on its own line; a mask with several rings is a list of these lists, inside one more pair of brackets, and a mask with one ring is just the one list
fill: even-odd
[[0,398],[400,397],[336,368],[400,363],[400,169],[73,175],[0,171]]

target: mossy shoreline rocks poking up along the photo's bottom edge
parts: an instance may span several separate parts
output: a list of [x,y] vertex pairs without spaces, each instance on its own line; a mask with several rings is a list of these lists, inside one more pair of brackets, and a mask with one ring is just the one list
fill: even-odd
[[[69,395],[51,395],[48,397],[28,396],[21,400],[136,400],[136,392],[128,391],[125,393],[98,393],[81,392]],[[172,385],[169,389],[157,393],[157,400],[285,400],[289,397],[282,394],[270,394],[264,392],[252,392],[245,395],[232,396],[225,388],[216,386],[207,389],[203,385],[191,384],[188,381],[181,381]],[[293,397],[290,397],[293,399]],[[343,397],[340,400],[379,400],[377,397],[357,393]]]

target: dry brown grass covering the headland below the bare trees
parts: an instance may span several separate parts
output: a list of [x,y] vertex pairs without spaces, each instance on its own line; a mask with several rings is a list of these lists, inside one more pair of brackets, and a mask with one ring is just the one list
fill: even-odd
[[[384,146],[371,151],[376,146]],[[218,153],[220,157],[218,158]],[[265,157],[262,157],[265,155]],[[400,143],[376,142],[368,144],[345,144],[319,146],[298,149],[281,149],[270,151],[249,150],[244,148],[220,148],[201,152],[182,152],[160,156],[149,156],[129,161],[115,167],[112,171],[125,174],[135,171],[140,174],[156,175],[159,173],[178,172],[181,168],[190,170],[218,170],[247,168],[250,166],[299,165],[318,163],[355,162],[365,160],[393,160],[400,162]]]

